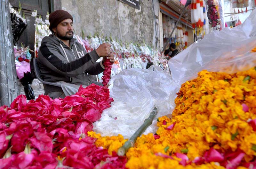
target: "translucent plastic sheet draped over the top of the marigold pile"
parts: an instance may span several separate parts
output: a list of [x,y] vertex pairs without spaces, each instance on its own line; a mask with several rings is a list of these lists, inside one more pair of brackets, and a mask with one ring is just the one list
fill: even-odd
[[213,31],[201,41],[170,59],[168,65],[172,78],[179,85],[194,79],[206,69],[215,72],[235,73],[256,65],[256,10],[235,28]]

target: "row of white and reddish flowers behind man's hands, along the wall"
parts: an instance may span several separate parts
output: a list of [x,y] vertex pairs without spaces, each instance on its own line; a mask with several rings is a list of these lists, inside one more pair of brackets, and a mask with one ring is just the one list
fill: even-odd
[[98,35],[84,38],[75,35],[75,38],[84,46],[87,52],[91,52],[102,43],[110,43],[116,58],[115,63],[112,65],[112,75],[118,74],[123,69],[146,68],[148,62],[153,62],[154,65],[158,65],[168,71],[168,62],[164,59],[163,54],[157,50],[153,50],[146,44],[120,43],[118,40],[112,39],[111,36],[109,37],[110,40]]

